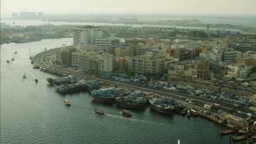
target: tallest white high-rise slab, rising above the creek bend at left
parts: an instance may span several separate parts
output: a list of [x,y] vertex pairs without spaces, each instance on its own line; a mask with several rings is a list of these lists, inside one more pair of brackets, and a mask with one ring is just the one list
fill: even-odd
[[73,28],[73,45],[94,44],[95,39],[102,37],[101,27],[76,27]]

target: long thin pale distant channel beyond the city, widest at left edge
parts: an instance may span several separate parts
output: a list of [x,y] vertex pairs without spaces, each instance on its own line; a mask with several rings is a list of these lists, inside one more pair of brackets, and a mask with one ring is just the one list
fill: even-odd
[[[71,25],[94,25],[94,26],[126,26],[131,27],[131,24],[112,24],[112,23],[98,23],[98,22],[62,22],[62,21],[40,21],[40,20],[10,20],[10,19],[1,19],[1,22],[6,23],[11,26],[36,26],[42,24],[53,24],[53,25],[63,25],[63,24],[71,24]],[[13,24],[15,22],[15,24]],[[176,27],[179,29],[206,29],[205,27],[183,27],[183,26],[170,26],[170,25],[155,25],[155,24],[133,24],[132,27]],[[241,31],[241,29],[223,29],[223,28],[209,28],[211,30],[233,30],[233,31]]]

